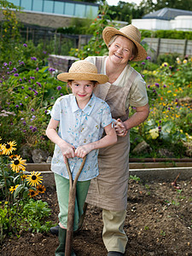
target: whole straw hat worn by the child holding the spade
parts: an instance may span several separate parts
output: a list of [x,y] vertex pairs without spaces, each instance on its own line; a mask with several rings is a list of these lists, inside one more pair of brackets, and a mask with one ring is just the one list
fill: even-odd
[[69,68],[68,73],[60,73],[57,79],[67,82],[68,80],[90,80],[99,84],[108,82],[108,76],[97,73],[97,68],[89,61],[75,61]]

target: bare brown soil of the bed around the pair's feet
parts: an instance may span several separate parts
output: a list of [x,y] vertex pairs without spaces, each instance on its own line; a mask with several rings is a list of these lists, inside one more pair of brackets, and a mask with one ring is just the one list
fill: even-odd
[[[125,256],[192,255],[192,181],[129,182],[125,232],[128,243]],[[58,205],[55,187],[47,188],[43,200],[52,209],[49,220],[57,224]],[[20,238],[7,239],[2,256],[54,256],[57,236],[26,232]],[[73,247],[78,256],[104,256],[102,210],[88,206],[82,230],[74,234]]]

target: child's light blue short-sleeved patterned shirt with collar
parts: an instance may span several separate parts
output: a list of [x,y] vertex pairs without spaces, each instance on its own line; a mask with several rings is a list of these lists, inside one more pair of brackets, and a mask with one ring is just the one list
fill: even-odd
[[[103,128],[113,123],[108,104],[94,94],[84,109],[79,108],[73,94],[61,96],[56,100],[50,114],[52,119],[60,121],[58,135],[75,148],[98,141],[102,137]],[[98,149],[87,155],[79,181],[90,180],[99,174],[97,155]],[[82,161],[79,157],[68,160],[73,179]],[[68,178],[67,167],[57,145],[51,162],[51,171]]]

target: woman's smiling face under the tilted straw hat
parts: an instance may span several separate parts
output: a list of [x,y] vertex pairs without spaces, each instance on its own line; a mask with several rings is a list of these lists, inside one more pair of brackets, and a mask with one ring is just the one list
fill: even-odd
[[134,55],[132,55],[133,45],[130,39],[118,36],[108,47],[110,60],[115,64],[126,65],[127,62],[131,61],[134,57]]

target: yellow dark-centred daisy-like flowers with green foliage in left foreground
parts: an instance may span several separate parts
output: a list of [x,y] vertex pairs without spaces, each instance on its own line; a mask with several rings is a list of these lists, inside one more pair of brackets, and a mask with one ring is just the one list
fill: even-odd
[[[1,139],[1,138],[0,138]],[[13,154],[15,142],[0,144],[0,242],[20,230],[47,231],[51,226],[44,218],[50,209],[46,202],[34,201],[46,190],[40,172],[26,174],[26,160]],[[30,199],[31,198],[31,199]]]

